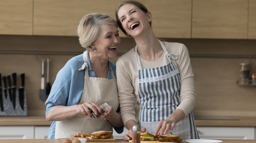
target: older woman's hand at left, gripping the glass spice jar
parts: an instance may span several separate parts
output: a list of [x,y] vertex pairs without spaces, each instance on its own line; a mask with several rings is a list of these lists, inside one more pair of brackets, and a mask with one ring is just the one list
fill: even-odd
[[88,115],[88,116],[90,116],[92,118],[92,114],[91,114],[91,111],[90,111],[89,108],[91,110],[93,110],[93,112],[96,115],[98,115],[98,111],[100,113],[102,113],[102,111],[99,108],[99,106],[96,103],[92,102],[92,101],[88,101],[88,102],[85,102],[83,104],[80,104],[76,111],[77,111],[78,114],[81,113],[81,114],[84,114],[84,115]]

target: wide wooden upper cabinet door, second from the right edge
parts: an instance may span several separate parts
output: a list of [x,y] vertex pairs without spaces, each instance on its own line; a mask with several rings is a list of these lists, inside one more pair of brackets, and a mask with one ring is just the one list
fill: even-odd
[[248,0],[193,0],[192,14],[192,38],[247,39]]

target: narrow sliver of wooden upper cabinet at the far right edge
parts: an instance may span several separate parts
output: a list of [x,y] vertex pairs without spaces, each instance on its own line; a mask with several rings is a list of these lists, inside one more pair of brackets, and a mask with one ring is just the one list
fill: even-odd
[[249,1],[248,39],[256,39],[256,0]]

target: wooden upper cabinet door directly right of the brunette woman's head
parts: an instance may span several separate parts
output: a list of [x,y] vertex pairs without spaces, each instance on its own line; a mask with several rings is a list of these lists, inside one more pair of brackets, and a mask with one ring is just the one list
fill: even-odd
[[191,38],[191,0],[138,0],[152,13],[156,37]]

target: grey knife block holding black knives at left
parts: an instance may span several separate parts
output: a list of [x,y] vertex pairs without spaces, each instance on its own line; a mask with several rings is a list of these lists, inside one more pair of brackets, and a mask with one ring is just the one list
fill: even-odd
[[7,91],[7,95],[8,95],[7,98],[5,98],[4,93],[2,95],[3,95],[2,98],[3,98],[3,104],[4,104],[4,111],[1,112],[0,110],[0,116],[28,116],[26,91],[24,91],[24,110],[22,110],[19,103],[18,90],[16,90],[15,109],[13,108],[13,103],[10,100],[9,92]]

